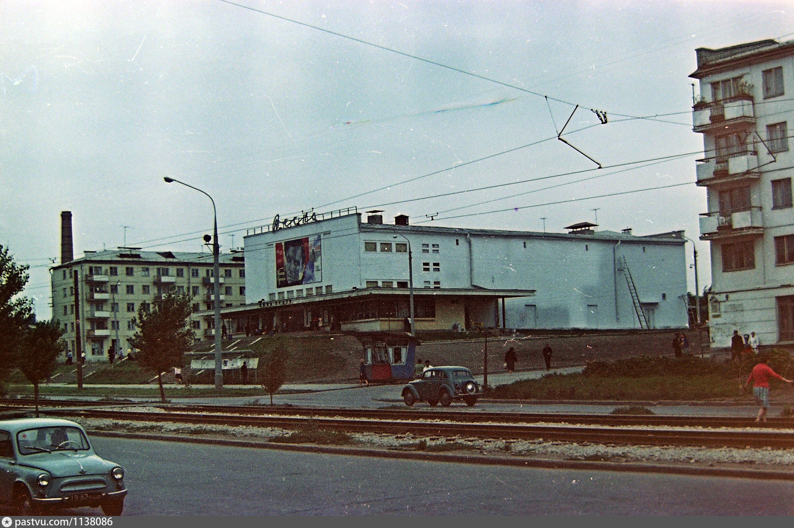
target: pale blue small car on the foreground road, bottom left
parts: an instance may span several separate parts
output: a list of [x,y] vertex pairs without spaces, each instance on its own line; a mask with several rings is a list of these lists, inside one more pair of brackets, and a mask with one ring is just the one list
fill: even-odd
[[90,506],[121,515],[126,495],[124,469],[94,453],[79,424],[0,421],[0,499],[19,514]]

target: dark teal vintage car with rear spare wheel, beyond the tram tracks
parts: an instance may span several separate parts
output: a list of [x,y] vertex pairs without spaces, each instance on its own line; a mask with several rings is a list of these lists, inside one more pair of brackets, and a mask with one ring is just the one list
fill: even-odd
[[472,371],[465,367],[428,368],[422,373],[421,379],[403,387],[403,401],[408,406],[427,402],[431,406],[441,403],[447,407],[456,399],[462,399],[466,405],[472,406],[482,394]]

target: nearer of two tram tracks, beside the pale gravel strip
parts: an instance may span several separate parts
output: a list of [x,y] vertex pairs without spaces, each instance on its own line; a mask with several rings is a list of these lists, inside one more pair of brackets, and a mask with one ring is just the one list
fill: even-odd
[[[179,422],[199,425],[279,427],[301,429],[313,424],[321,429],[348,433],[413,434],[414,436],[485,437],[506,440],[592,442],[618,445],[702,445],[711,447],[773,447],[794,448],[794,434],[777,431],[676,430],[664,427],[615,428],[609,426],[555,426],[504,422],[429,422],[413,419],[344,418],[312,415],[263,416],[252,414],[204,414],[169,410],[145,412],[136,410],[52,409],[49,416],[109,418],[142,422]],[[480,414],[477,414],[480,418]],[[438,419],[439,416],[434,418]],[[473,418],[473,417],[472,417]]]

